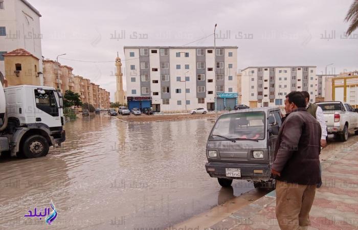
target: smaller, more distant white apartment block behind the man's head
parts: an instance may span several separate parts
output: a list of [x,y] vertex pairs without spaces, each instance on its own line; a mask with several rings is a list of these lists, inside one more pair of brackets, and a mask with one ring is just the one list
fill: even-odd
[[308,91],[310,101],[318,96],[316,66],[255,66],[242,71],[242,103],[250,107],[284,106],[291,91]]

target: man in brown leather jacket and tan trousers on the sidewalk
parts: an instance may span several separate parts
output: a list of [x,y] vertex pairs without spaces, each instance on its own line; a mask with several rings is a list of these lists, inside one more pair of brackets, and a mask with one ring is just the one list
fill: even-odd
[[310,225],[309,212],[316,185],[321,181],[321,127],[305,107],[300,92],[286,96],[286,118],[271,167],[276,178],[276,217],[281,229],[305,229]]

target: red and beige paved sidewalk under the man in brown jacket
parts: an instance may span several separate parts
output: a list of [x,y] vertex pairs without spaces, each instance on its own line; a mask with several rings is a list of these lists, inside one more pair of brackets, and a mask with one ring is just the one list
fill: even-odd
[[[323,185],[316,190],[308,229],[358,229],[358,142],[328,146],[320,158]],[[210,229],[280,229],[275,195],[267,194]]]

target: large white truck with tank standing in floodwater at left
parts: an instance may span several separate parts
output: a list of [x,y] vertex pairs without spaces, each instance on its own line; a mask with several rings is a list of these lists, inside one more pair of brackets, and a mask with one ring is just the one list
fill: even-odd
[[[1,79],[0,79],[1,80]],[[34,158],[65,141],[63,100],[47,86],[0,83],[0,153]]]

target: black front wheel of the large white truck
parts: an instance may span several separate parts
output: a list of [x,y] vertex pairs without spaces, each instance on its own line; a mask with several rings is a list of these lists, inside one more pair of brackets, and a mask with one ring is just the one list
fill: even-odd
[[27,158],[46,156],[49,152],[49,143],[40,135],[29,136],[24,142],[23,153]]

